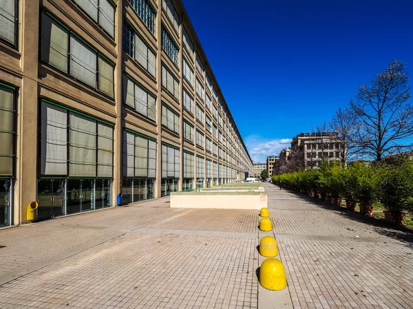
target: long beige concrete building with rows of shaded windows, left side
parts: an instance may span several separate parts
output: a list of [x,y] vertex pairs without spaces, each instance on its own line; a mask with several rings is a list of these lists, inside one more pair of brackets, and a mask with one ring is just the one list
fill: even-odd
[[0,226],[253,171],[180,0],[0,1]]

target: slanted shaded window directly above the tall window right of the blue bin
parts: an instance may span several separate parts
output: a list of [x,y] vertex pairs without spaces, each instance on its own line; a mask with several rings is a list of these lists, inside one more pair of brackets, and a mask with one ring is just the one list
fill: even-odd
[[123,74],[123,104],[156,121],[156,97]]

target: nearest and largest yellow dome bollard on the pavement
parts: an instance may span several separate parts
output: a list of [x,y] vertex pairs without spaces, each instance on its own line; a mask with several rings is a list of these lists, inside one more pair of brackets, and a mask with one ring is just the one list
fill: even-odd
[[271,258],[262,262],[260,284],[267,290],[282,290],[286,287],[286,268],[279,259]]

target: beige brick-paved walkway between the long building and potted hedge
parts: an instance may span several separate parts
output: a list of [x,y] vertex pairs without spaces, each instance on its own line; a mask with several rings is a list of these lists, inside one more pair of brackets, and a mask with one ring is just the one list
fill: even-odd
[[[412,308],[413,238],[264,184],[294,308]],[[257,211],[162,198],[0,231],[3,308],[260,308]]]

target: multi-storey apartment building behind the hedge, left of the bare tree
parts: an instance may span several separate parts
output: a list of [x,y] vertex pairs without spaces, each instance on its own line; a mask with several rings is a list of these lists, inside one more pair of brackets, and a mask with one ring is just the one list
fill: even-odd
[[293,137],[291,151],[301,154],[304,167],[318,167],[321,160],[341,160],[346,149],[337,132],[300,133]]

